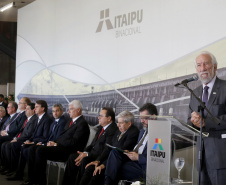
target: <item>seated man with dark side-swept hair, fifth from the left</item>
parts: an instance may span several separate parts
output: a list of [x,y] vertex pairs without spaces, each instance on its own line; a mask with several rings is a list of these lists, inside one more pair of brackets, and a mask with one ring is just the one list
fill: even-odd
[[26,161],[28,160],[29,147],[36,145],[37,143],[45,143],[49,137],[49,128],[52,123],[52,119],[47,114],[48,106],[46,101],[38,100],[35,103],[35,113],[38,116],[35,122],[35,129],[32,136],[26,140],[21,147],[19,163],[16,170],[16,175],[23,177]]

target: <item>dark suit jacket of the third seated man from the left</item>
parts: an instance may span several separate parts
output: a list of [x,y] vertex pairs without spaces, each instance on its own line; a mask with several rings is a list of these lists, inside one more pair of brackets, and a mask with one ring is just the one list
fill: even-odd
[[15,120],[14,123],[11,123],[9,126],[8,134],[11,137],[16,136],[16,134],[20,131],[21,127],[23,126],[27,116],[25,111],[23,111]]

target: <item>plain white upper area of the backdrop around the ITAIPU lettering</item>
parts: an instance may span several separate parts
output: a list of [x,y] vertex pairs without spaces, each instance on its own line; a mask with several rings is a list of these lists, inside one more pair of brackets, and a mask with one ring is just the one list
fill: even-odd
[[[109,16],[100,19],[100,11],[106,9]],[[134,19],[131,24],[135,15],[139,21]],[[38,0],[19,10],[18,36],[36,54],[32,59],[18,39],[17,69],[23,60],[36,61],[39,56],[47,68],[77,82],[105,84],[101,78],[119,82],[222,39],[225,17],[223,0]],[[113,29],[107,29],[106,20]],[[96,33],[100,21],[103,26]],[[128,34],[131,30],[135,33]],[[69,74],[67,66],[64,72],[51,67],[64,63],[81,66],[89,75]],[[17,71],[17,87],[24,85],[20,73],[29,69],[23,67]],[[34,70],[34,75],[37,72]],[[90,73],[96,78],[90,78]]]

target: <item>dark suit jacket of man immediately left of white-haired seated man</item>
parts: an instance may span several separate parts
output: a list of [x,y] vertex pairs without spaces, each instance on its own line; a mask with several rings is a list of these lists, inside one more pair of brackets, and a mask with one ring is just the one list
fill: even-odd
[[53,130],[53,127],[54,127],[54,123],[55,123],[55,120],[54,122],[50,125],[50,133],[49,133],[49,136],[51,136],[51,138],[48,138],[50,141],[54,141],[56,138],[58,138],[60,136],[60,134],[62,133],[66,123],[67,123],[67,120],[65,119],[65,117],[62,115],[54,129],[54,132],[52,133],[52,130]]

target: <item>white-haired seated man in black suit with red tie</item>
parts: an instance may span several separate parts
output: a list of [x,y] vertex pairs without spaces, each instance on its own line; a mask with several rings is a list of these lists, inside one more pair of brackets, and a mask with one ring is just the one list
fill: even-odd
[[[24,185],[35,183],[45,185],[47,160],[66,161],[71,153],[83,151],[85,148],[90,130],[88,123],[82,116],[81,102],[73,100],[69,103],[68,112],[71,119],[60,136],[49,141],[47,146],[38,147],[36,150],[30,151],[28,181],[24,182]],[[30,163],[33,164],[30,166]]]

